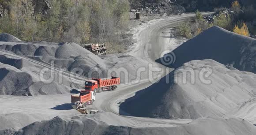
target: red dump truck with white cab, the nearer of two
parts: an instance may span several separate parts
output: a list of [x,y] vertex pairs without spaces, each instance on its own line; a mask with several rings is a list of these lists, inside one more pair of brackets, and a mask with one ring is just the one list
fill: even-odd
[[75,103],[76,109],[78,107],[85,107],[91,105],[95,101],[94,91],[81,90],[79,94],[71,96],[71,102]]

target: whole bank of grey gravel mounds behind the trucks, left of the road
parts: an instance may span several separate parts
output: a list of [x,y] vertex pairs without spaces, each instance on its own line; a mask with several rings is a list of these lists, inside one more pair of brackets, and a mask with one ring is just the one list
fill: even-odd
[[[136,76],[145,65],[125,54],[97,56],[75,43],[5,41],[0,42],[0,94],[64,94],[83,89],[86,79],[112,75],[128,83],[148,78],[147,71]],[[46,80],[40,78],[41,71]]]

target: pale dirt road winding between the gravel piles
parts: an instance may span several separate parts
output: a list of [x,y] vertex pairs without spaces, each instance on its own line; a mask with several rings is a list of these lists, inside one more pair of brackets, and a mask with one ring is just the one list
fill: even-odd
[[[205,13],[211,14],[211,13]],[[177,45],[171,45],[171,28],[177,26],[179,23],[184,20],[193,17],[193,14],[187,14],[182,16],[173,16],[166,19],[162,19],[161,21],[156,21],[149,26],[143,26],[142,29],[138,30],[136,35],[137,42],[135,44],[135,48],[129,52],[130,55],[143,58],[144,60],[150,61],[151,64],[157,67],[165,68],[164,66],[157,64],[154,60],[160,58],[162,53],[166,50],[171,51],[175,49]],[[147,24],[146,24],[147,25]],[[167,31],[167,32],[166,32]],[[167,51],[167,52],[168,52]],[[162,75],[167,74],[163,73]],[[97,95],[97,102],[95,102],[95,106],[99,110],[103,110],[106,112],[113,112],[116,116],[120,117],[119,105],[125,99],[134,96],[134,94],[143,90],[144,88],[152,85],[152,82],[144,80],[145,82],[138,83],[136,85],[123,85],[117,91],[109,91],[104,92]],[[101,100],[104,99],[104,100]],[[141,117],[132,117],[129,114],[122,112],[122,114],[126,114],[127,116],[121,116],[123,118],[118,118],[120,120],[119,123],[112,123],[113,125],[125,125],[132,127],[143,127],[143,125],[147,124],[147,127],[150,124],[151,126],[175,126],[180,124],[187,124],[192,120],[166,120],[166,119],[154,119],[154,118],[141,118]],[[113,117],[112,117],[113,118]],[[125,120],[123,120],[125,118]],[[104,120],[97,119],[96,120]],[[131,122],[132,120],[132,122]],[[112,120],[107,120],[107,123],[111,123]],[[136,125],[134,124],[136,122]]]

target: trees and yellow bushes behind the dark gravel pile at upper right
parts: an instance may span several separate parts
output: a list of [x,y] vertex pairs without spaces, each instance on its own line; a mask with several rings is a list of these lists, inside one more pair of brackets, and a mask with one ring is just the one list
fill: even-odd
[[233,1],[230,5],[230,10],[233,13],[224,14],[223,11],[219,11],[213,22],[206,22],[202,14],[196,11],[196,17],[177,26],[175,34],[193,38],[212,26],[220,26],[244,36],[256,34],[256,27],[252,24],[256,17],[255,8],[252,5],[241,7],[238,0]]

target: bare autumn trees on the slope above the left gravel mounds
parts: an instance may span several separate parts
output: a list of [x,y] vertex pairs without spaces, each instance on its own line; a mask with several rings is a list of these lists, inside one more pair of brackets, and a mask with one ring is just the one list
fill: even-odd
[[36,9],[44,0],[0,0],[8,14],[0,31],[23,41],[114,42],[127,30],[128,0],[49,0],[46,13]]

